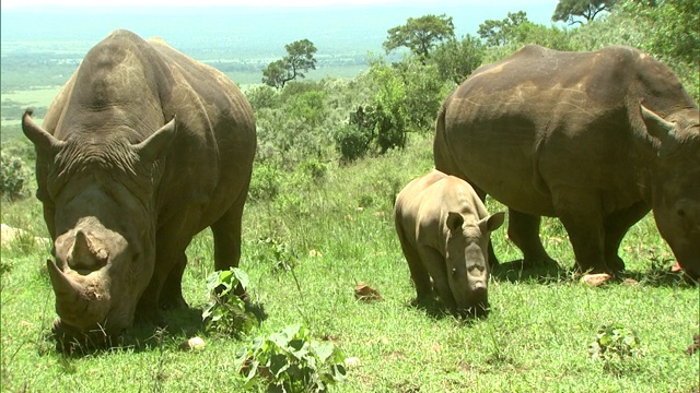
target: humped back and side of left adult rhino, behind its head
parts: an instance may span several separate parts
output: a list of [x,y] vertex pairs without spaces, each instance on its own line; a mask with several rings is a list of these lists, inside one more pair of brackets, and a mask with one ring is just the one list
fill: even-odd
[[[116,140],[141,142],[173,117],[177,132],[153,179],[158,221],[196,206],[194,234],[247,190],[255,154],[252,108],[221,72],[162,40],[115,31],[86,53],[44,126],[59,140],[85,141],[100,152]],[[47,166],[37,159],[39,194],[47,194]]]

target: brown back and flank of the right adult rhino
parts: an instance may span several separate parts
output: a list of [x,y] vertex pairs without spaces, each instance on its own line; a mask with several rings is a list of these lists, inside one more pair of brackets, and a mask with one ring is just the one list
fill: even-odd
[[553,215],[551,190],[580,184],[611,195],[611,209],[629,205],[644,162],[630,123],[640,102],[661,114],[693,105],[667,67],[637,49],[527,46],[479,68],[445,102],[436,164],[456,163],[457,175],[523,212]]

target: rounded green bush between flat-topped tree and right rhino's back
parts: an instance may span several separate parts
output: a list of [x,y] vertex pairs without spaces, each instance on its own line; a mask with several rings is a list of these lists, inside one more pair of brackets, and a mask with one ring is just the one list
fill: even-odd
[[432,61],[443,81],[462,83],[483,61],[485,46],[475,36],[466,35],[462,40],[452,38],[435,47]]

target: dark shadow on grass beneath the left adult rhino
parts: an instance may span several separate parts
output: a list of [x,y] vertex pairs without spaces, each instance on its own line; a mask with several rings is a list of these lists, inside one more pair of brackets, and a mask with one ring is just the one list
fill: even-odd
[[[246,311],[253,314],[258,323],[267,319],[262,303],[246,302]],[[67,331],[57,333],[55,329],[45,336],[46,349],[40,352],[81,358],[122,350],[135,353],[161,350],[164,346],[177,347],[189,337],[209,336],[200,308],[165,310],[163,317],[164,326],[144,321],[137,322],[127,332],[116,336],[106,335],[98,330],[88,333]],[[55,345],[55,350],[48,349],[50,345]]]

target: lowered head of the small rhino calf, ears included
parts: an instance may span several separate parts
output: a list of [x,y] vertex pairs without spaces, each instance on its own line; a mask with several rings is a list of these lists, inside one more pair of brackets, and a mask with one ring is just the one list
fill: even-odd
[[469,223],[459,213],[447,214],[447,282],[457,312],[464,315],[483,315],[488,311],[489,239],[491,231],[503,225],[504,216],[499,212]]

